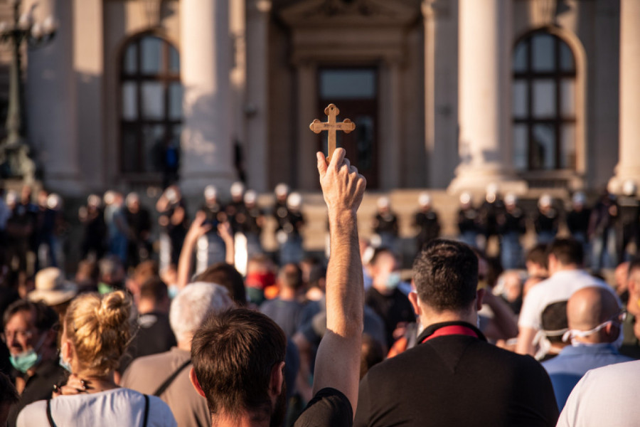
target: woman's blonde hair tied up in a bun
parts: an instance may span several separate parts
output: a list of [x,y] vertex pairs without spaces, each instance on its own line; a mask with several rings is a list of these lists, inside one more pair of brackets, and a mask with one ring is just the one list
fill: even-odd
[[117,369],[132,338],[131,306],[131,297],[122,290],[82,294],[71,302],[65,335],[85,375],[105,376]]

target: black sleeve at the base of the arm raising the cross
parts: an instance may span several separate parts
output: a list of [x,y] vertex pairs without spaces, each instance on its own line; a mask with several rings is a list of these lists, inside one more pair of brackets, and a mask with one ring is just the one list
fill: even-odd
[[312,426],[353,426],[353,408],[349,399],[336,389],[318,391],[294,423],[294,427]]

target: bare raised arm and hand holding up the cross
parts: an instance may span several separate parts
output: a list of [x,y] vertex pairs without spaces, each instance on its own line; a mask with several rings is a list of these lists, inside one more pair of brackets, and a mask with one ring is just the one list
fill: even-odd
[[316,355],[314,394],[325,387],[337,389],[351,401],[355,413],[364,305],[356,212],[366,179],[344,155],[344,149],[336,149],[327,165],[324,154],[317,154],[320,184],[329,209],[331,258],[326,272],[326,334]]

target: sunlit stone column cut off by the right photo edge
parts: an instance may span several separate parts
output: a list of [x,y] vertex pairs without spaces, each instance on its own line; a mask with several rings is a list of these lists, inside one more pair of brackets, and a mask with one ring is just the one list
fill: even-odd
[[620,140],[619,162],[609,190],[622,192],[633,179],[640,186],[640,1],[620,1]]

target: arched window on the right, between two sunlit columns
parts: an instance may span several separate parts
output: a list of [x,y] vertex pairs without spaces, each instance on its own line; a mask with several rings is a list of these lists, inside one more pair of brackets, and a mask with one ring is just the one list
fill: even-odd
[[513,164],[519,171],[575,169],[575,58],[536,31],[513,51]]

